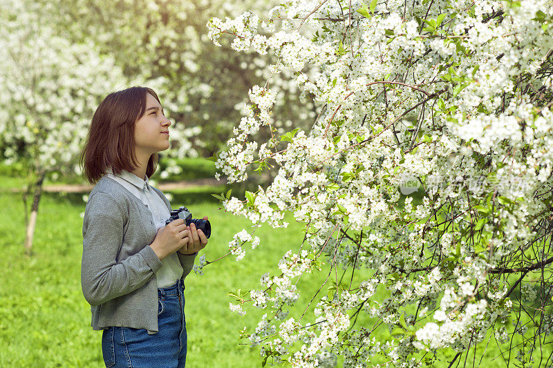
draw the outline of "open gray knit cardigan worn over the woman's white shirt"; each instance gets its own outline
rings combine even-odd
[[[165,195],[154,190],[171,211]],[[156,234],[147,206],[104,175],[88,196],[82,224],[81,283],[91,304],[93,329],[122,326],[158,332],[155,272],[162,263],[149,246]],[[196,254],[177,255],[184,279]]]

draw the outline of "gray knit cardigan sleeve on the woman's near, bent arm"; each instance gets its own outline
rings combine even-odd
[[[123,242],[125,218],[118,202],[108,193],[95,193],[86,204],[81,284],[84,298],[91,305],[131,293],[162,267],[149,244],[138,253],[116,261]]]

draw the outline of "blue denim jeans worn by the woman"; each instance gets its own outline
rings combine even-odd
[[[102,333],[102,354],[106,367],[184,368],[186,361],[186,320],[184,283],[158,289],[159,332],[146,329],[109,327]]]

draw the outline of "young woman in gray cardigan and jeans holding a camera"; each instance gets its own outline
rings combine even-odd
[[[153,90],[111,93],[92,118],[81,164],[91,183],[83,220],[81,282],[106,367],[185,367],[184,280],[207,238],[148,178],[169,126]],[[207,220],[207,217],[204,217]]]

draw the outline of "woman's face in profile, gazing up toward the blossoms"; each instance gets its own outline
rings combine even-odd
[[[171,122],[163,115],[158,100],[147,93],[146,111],[135,122],[134,142],[137,157],[149,157],[153,153],[169,148],[169,126]]]

